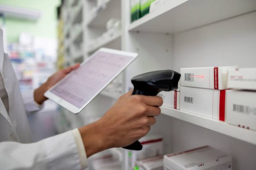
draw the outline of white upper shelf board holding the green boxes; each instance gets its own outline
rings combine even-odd
[[[255,0],[173,0],[134,21],[128,29],[179,33],[255,10]]]

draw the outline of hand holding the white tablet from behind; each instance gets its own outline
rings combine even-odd
[[[71,71],[75,70],[76,68],[79,68],[79,66],[80,64],[78,63],[68,68],[59,70],[55,74],[52,74],[52,76],[49,77],[44,84],[42,84],[39,88],[35,89],[34,91],[35,102],[41,105],[45,100],[47,100],[47,97],[44,96],[44,93],[47,90],[49,90],[52,86],[54,86],[57,82],[59,82],[61,79],[63,79],[65,76],[67,76],[67,74],[69,74]]]

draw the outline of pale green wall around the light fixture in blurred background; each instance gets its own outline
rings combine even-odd
[[[56,7],[60,0],[0,0],[0,4],[32,8],[41,11],[42,14],[37,21],[6,18],[8,42],[17,42],[21,32],[47,38],[57,37]]]

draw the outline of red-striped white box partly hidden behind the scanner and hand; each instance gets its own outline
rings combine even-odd
[[[163,98],[163,105],[180,110],[180,92],[162,91],[158,96]]]

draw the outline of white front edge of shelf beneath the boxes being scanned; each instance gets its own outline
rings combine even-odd
[[[241,127],[227,124],[226,122],[207,118],[194,113],[176,110],[166,106],[162,106],[161,111],[163,114],[172,116],[176,119],[180,119],[201,127],[205,127],[207,129],[225,134],[227,136],[231,136],[236,139],[240,139],[251,144],[256,144],[256,131],[244,129]]]

